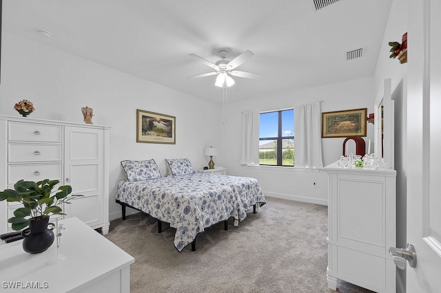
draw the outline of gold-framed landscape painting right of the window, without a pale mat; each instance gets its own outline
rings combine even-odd
[[[322,113],[322,138],[366,136],[367,108]]]

